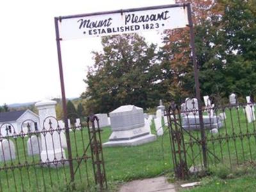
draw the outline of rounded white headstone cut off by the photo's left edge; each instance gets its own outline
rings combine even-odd
[[[16,158],[13,141],[4,139],[0,142],[0,161],[8,161]]]

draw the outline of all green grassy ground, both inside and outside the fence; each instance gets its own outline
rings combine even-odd
[[[231,113],[232,121],[230,120]],[[201,181],[201,186],[188,189],[188,191],[216,191],[216,189],[219,191],[240,191],[240,189],[246,191],[246,189],[256,188],[256,184],[253,182],[256,179],[256,166],[253,163],[254,159],[256,159],[255,136],[245,138],[237,137],[236,142],[230,139],[225,144],[222,143],[223,145],[220,145],[218,140],[214,140],[214,138],[233,134],[234,132],[237,135],[242,132],[255,133],[255,122],[252,124],[246,123],[246,116],[244,116],[243,109],[239,109],[238,111],[226,109],[226,115],[227,120],[225,120],[225,127],[227,127],[227,129],[222,127],[219,133],[215,135],[210,134],[209,131],[205,131],[207,138],[212,139],[211,142],[208,141],[207,147],[221,159],[221,162],[209,156],[210,172],[208,176],[202,178],[191,177],[188,180],[182,181]],[[152,124],[151,129],[152,134],[156,134],[154,124]],[[170,179],[170,182],[175,182],[177,189],[180,189],[180,181],[173,179],[172,152],[167,127],[165,127],[164,130],[164,135],[158,137],[157,140],[152,143],[137,147],[109,147],[103,149],[109,191],[118,190],[120,184],[130,180],[152,178],[159,175],[166,175],[166,177]],[[101,134],[102,143],[108,141],[110,134],[111,128],[105,127]],[[191,134],[193,134],[195,138],[200,138],[200,132],[198,131],[193,131]],[[76,158],[77,154],[79,154],[77,157],[80,157],[81,154],[84,153],[84,148],[88,145],[87,128],[84,127],[82,131],[74,130],[70,132],[70,137],[72,156]],[[24,138],[24,140],[21,138],[12,140],[15,147],[18,149],[16,153],[20,154],[19,159],[15,159],[13,163],[8,161],[5,165],[1,163],[1,168],[4,166],[12,166],[12,164],[19,164],[19,161],[27,162],[28,164],[38,162],[39,156],[24,155],[27,154],[27,152],[24,151],[24,148],[26,149],[24,146],[28,138]],[[187,134],[184,134],[184,140],[185,142],[189,140]],[[202,155],[200,153],[201,147],[199,145],[188,147],[188,156],[192,155],[191,149],[193,149],[194,153],[198,152],[200,154],[198,158],[195,158],[195,163],[198,162],[198,164],[200,164],[200,156]],[[90,156],[90,151],[86,154]],[[95,190],[93,188],[92,164],[90,161],[90,159],[88,159],[88,163],[82,161],[81,166],[76,171],[75,180],[77,191],[84,191],[88,184],[90,184],[92,191]],[[189,158],[187,161],[188,164],[191,164]],[[77,168],[77,162],[74,161],[75,170]],[[66,175],[66,177],[63,175]],[[88,177],[86,177],[86,175],[88,175]],[[46,168],[40,165],[22,166],[15,169],[10,168],[8,172],[1,170],[0,184],[3,191],[15,191],[14,186],[20,186],[20,189],[17,191],[35,191],[36,186],[40,188],[40,186],[44,184],[46,188],[49,188],[49,191],[65,191],[67,189],[66,184],[69,182],[68,177],[68,166],[63,166],[62,168]],[[43,182],[43,180],[45,182]]]

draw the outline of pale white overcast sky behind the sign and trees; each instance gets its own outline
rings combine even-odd
[[[0,106],[61,97],[54,17],[172,4],[174,0],[8,0],[0,3]],[[144,32],[159,44],[161,32]],[[100,38],[61,42],[67,98],[86,89],[83,79],[93,65]]]

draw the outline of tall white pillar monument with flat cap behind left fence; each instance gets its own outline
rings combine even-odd
[[[62,158],[66,158],[65,150],[61,148],[60,135],[58,131],[55,131],[58,129],[55,111],[56,103],[57,102],[54,100],[45,100],[35,104],[38,109],[41,129],[45,128],[46,130],[49,130],[49,120],[51,120],[51,127],[54,129],[52,134],[47,132],[45,136],[44,134],[41,134],[40,136],[42,141],[42,152],[40,157],[43,163],[48,163],[49,161],[52,162],[55,159],[60,161]]]

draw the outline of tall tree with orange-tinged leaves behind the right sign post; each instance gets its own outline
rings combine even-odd
[[[255,90],[256,80],[255,1],[191,3],[202,95],[249,95]],[[162,68],[169,67],[173,73],[168,79],[172,98],[195,96],[188,28],[168,31],[164,39]]]

